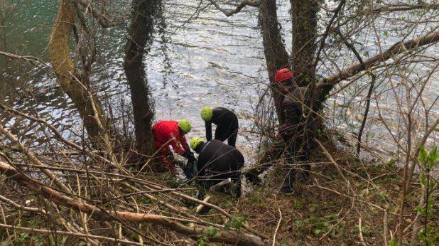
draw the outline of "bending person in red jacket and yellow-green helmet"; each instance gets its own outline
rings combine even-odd
[[[162,120],[154,124],[151,128],[154,135],[154,144],[158,149],[158,159],[166,165],[171,173],[175,173],[175,164],[169,146],[172,146],[175,153],[187,158],[189,160],[188,164],[196,162],[195,156],[190,151],[188,142],[185,139],[185,134],[190,132],[191,128],[188,120]],[[190,168],[187,170],[190,170]],[[185,173],[186,176],[190,176],[187,171],[185,171]]]

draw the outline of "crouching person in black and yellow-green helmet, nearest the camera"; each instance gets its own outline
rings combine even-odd
[[[213,139],[205,143],[193,138],[190,147],[198,154],[197,181],[206,190],[224,179],[232,178],[234,193],[241,196],[241,178],[239,169],[244,166],[244,156],[234,146]]]

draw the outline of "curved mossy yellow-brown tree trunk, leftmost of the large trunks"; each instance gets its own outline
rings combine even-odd
[[[70,58],[69,38],[75,21],[75,9],[69,0],[60,0],[58,14],[53,24],[49,42],[50,60],[58,77],[58,82],[64,92],[75,104],[85,129],[94,141],[106,136],[106,118],[99,102],[86,83],[80,82],[75,76],[75,65]]]

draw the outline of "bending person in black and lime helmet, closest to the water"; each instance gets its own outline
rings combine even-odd
[[[230,146],[235,146],[238,136],[238,117],[237,114],[225,107],[203,107],[201,109],[201,119],[205,121],[206,139],[212,140],[212,123],[217,125],[215,139],[225,141]]]

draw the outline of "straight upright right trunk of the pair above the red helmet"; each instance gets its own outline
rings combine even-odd
[[[291,69],[299,86],[315,82],[315,36],[318,6],[313,0],[291,0],[293,38]]]

